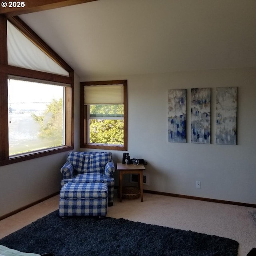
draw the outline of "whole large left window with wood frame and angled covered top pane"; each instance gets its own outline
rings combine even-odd
[[[0,17],[0,166],[74,149],[74,71],[9,19]]]

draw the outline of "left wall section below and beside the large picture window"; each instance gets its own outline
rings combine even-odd
[[[80,79],[75,74],[74,125],[75,149],[79,138]],[[50,196],[60,190],[60,168],[66,162],[68,152],[44,156],[16,164],[0,166],[0,217]]]

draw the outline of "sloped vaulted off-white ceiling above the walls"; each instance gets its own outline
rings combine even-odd
[[[81,77],[256,66],[255,0],[98,0],[19,17]]]

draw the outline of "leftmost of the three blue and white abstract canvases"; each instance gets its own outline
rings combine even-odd
[[[168,141],[186,142],[186,89],[168,90]]]

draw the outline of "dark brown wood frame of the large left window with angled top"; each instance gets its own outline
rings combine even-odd
[[[36,33],[19,17],[8,19],[36,46],[44,51],[52,60],[68,71],[69,76],[40,72],[8,65],[7,58],[7,18],[0,15],[0,166],[48,156],[74,149],[74,70],[56,54]],[[48,80],[70,84],[65,87],[65,145],[9,156],[8,143],[8,75]]]

